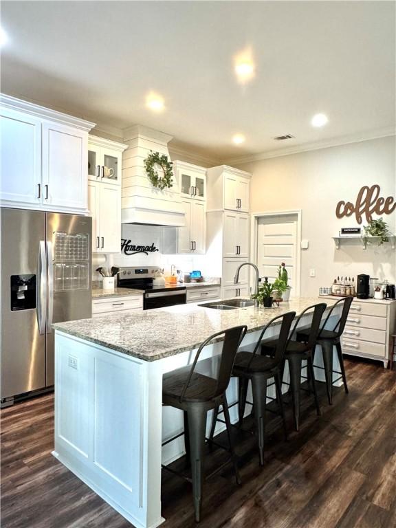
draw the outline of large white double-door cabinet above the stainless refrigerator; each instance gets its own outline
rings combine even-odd
[[[94,123],[0,96],[0,205],[87,214]]]

